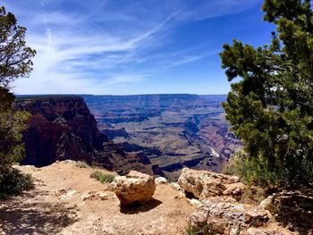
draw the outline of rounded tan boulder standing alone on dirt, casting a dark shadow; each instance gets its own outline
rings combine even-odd
[[[126,176],[119,176],[110,185],[121,205],[134,202],[146,204],[155,193],[156,183],[153,176],[131,171]]]

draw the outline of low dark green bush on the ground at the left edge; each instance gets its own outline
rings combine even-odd
[[[5,199],[11,195],[21,194],[24,190],[34,189],[34,182],[30,174],[7,167],[0,171],[0,199]]]

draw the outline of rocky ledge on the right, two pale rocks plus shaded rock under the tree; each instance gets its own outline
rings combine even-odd
[[[197,207],[190,215],[190,230],[195,234],[312,234],[313,197],[300,192],[274,194],[259,205],[250,205],[241,202],[250,189],[237,177],[185,168],[178,183],[199,200],[190,200]]]

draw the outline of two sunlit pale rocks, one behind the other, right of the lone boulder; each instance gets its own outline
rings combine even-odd
[[[250,189],[245,189],[237,177],[185,168],[178,182],[185,192],[199,198],[189,199],[196,207],[190,215],[190,230],[195,234],[292,234],[268,211],[278,211],[275,197],[268,197],[259,206],[239,202],[243,191]]]

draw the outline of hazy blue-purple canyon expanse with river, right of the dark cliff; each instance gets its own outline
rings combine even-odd
[[[125,152],[147,156],[170,180],[183,167],[220,172],[242,147],[225,120],[225,95],[82,97],[100,132]]]

